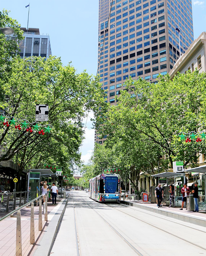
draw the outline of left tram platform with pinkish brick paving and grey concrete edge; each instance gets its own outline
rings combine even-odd
[[[34,224],[35,224],[35,244],[30,244],[30,207],[21,209],[22,222],[22,256],[33,256],[36,251],[38,255],[42,255],[42,250],[46,248],[48,251],[58,222],[60,222],[65,202],[67,198],[57,198],[57,204],[52,205],[52,201],[48,201],[48,221],[42,219],[42,231],[38,231],[38,211],[39,207],[34,207]],[[0,222],[0,256],[13,256],[16,252],[16,214],[8,217]],[[49,241],[49,239],[51,241]],[[47,241],[45,243],[45,241]],[[42,245],[42,246],[40,246]],[[42,249],[44,248],[44,249]],[[39,251],[40,249],[40,251]]]

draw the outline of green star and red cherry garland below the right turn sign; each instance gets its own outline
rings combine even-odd
[[[6,121],[6,120],[8,120],[8,121]],[[7,117],[4,114],[1,114],[0,122],[3,122],[3,125],[7,126],[7,127],[10,125],[14,125],[15,129],[21,130],[22,128],[25,128],[27,132],[32,133],[33,131],[37,131],[38,134],[41,134],[41,135],[45,135],[45,133],[50,133],[50,130],[52,129],[52,128],[50,128],[51,125],[50,126],[47,124],[42,125],[39,122],[33,122],[33,123],[35,123],[35,125],[33,125],[33,123],[30,123],[26,119],[17,119],[17,118],[14,118],[13,116]],[[16,124],[16,122],[18,123],[18,125]]]

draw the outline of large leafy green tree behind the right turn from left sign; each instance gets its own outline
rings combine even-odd
[[[71,64],[63,66],[60,58],[54,56],[47,60],[15,56],[10,63],[10,77],[2,89],[4,97],[0,107],[7,116],[4,121],[9,123],[13,118],[17,120],[15,124],[22,127],[26,119],[26,127],[33,127],[35,105],[44,103],[49,105],[49,122],[42,124],[49,124],[52,130],[42,135],[37,130],[27,132],[26,127],[15,129],[12,122],[8,127],[1,122],[0,145],[4,147],[0,161],[10,160],[18,153],[19,176],[31,161],[33,166],[54,161],[67,166],[69,172],[71,163],[80,159],[78,148],[84,136],[82,118],[90,110],[98,115],[99,106],[106,106],[98,78],[85,71],[76,74]]]

